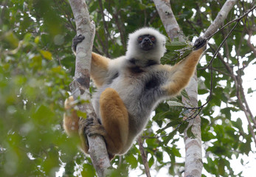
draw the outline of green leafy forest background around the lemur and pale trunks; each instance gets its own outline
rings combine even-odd
[[[187,41],[192,41],[209,27],[224,1],[170,3]],[[110,58],[124,55],[128,33],[139,27],[156,27],[166,34],[153,1],[98,0],[87,4],[97,28],[94,52]],[[238,1],[226,21],[242,15],[253,4]],[[0,15],[0,174],[94,176],[89,157],[77,151],[77,140],[67,138],[62,128],[63,101],[69,96],[75,69],[71,44],[76,32],[69,2],[3,0]],[[198,65],[199,105],[209,95],[211,80],[209,69],[200,68],[210,61],[232,25],[212,38],[205,59]],[[249,109],[254,105],[246,105],[243,96],[252,96],[255,88],[244,89],[242,80],[246,68],[255,64],[251,40],[255,35],[254,11],[238,24],[212,63],[212,97],[200,114],[205,176],[243,176],[234,172],[230,160],[239,157],[241,166],[248,162],[247,156],[255,156],[252,133],[256,124]],[[177,53],[172,47],[168,49],[162,63],[176,63]],[[255,75],[249,77],[255,80]],[[179,157],[184,156],[184,150],[177,142],[184,128],[170,133],[182,122],[182,111],[161,103],[148,123],[142,139],[151,170],[167,169],[172,176],[182,175],[184,162]],[[241,111],[243,114],[235,114]],[[143,173],[137,145],[112,163],[118,176],[128,176],[132,169],[138,176]]]

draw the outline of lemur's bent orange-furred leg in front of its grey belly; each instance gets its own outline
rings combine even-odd
[[[108,88],[100,95],[100,113],[109,153],[120,153],[128,139],[128,111],[119,94]]]

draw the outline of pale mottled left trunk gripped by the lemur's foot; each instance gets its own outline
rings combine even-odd
[[[94,41],[95,26],[91,23],[89,18],[89,12],[84,0],[69,0],[70,6],[75,17],[75,23],[77,26],[77,34],[85,36],[80,44],[77,44],[76,50],[76,62],[75,62],[75,77],[70,84],[72,95],[80,100],[91,100],[89,87],[90,87],[90,71],[91,71],[91,50]],[[79,106],[79,110],[86,112],[87,117],[93,117],[94,122],[97,123],[96,114],[91,103],[86,103]],[[84,142],[85,119],[80,118],[79,133],[81,140]],[[111,166],[108,159],[108,152],[105,147],[105,142],[102,136],[88,136],[89,153],[91,161],[94,164],[94,168],[97,171],[98,176],[106,176],[108,173],[107,168]]]

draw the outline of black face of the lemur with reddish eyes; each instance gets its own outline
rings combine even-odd
[[[137,41],[140,48],[145,51],[153,49],[156,44],[156,38],[153,35],[140,35]]]

